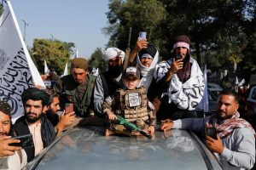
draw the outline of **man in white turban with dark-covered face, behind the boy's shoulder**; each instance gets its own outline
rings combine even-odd
[[[102,104],[104,99],[113,95],[117,88],[122,87],[122,71],[125,52],[119,48],[108,48],[103,53],[103,59],[108,62],[108,71],[96,77],[94,88],[94,109],[96,116],[104,117]]]

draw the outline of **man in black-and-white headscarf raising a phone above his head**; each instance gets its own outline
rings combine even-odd
[[[157,48],[148,44],[146,40],[137,41],[136,47],[131,51],[129,60],[131,65],[135,65],[134,60],[137,56],[137,67],[141,72],[141,82],[138,87],[145,87],[146,92],[150,83],[152,82],[155,65],[159,59],[159,53]]]

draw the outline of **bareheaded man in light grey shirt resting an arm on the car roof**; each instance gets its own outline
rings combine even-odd
[[[205,118],[166,120],[160,128],[183,128],[204,133],[206,127],[216,127],[217,138],[206,136],[207,147],[225,166],[250,169],[255,161],[255,132],[244,119],[239,118],[239,96],[232,90],[223,90],[218,99],[217,112]],[[225,169],[225,168],[224,168]],[[235,168],[233,168],[235,169]]]

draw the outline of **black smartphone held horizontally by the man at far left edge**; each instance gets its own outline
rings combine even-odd
[[[9,144],[10,146],[20,146],[21,148],[28,148],[32,147],[34,145],[32,134],[26,134],[26,135],[20,135],[20,136],[14,136],[11,139],[19,139],[20,143],[12,143]]]

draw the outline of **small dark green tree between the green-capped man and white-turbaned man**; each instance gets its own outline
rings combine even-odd
[[[102,59],[102,48],[96,48],[95,52],[90,56],[90,67],[99,69],[99,73],[106,71],[107,63]]]

